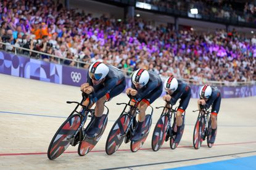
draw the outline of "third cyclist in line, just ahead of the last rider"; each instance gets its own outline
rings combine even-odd
[[[163,96],[163,100],[168,104],[173,106],[176,104],[178,99],[181,99],[176,112],[177,134],[175,137],[175,143],[178,143],[181,140],[181,130],[183,125],[182,114],[188,107],[188,103],[191,98],[191,88],[187,83],[177,80],[173,76],[168,77],[168,79],[165,80],[164,87],[167,94]]]

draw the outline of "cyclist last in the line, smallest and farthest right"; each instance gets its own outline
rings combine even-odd
[[[220,90],[217,87],[210,87],[209,85],[204,85],[199,90],[200,99],[197,101],[197,104],[209,109],[212,106],[211,119],[212,119],[212,137],[210,138],[209,143],[215,141],[215,132],[217,129],[217,115],[220,110],[221,95]]]

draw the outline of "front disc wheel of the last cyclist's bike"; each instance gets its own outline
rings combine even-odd
[[[204,128],[205,128],[205,120],[202,116],[197,118],[196,125],[194,128],[193,134],[193,145],[194,149],[199,149],[204,141]]]

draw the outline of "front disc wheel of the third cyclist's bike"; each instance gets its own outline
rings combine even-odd
[[[165,137],[167,136],[167,126],[168,115],[162,115],[154,128],[151,141],[152,150],[157,151],[162,147]]]

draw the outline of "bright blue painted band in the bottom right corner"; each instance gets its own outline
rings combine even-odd
[[[207,170],[215,170],[217,168],[220,169],[255,169],[255,161],[256,156],[249,156],[244,158],[235,158],[232,160],[226,160],[226,161],[217,161],[213,163],[203,163],[203,164],[196,164],[192,166],[183,166],[180,168],[171,168],[171,170],[200,170],[200,169],[207,169]],[[169,170],[169,169],[165,169]]]

